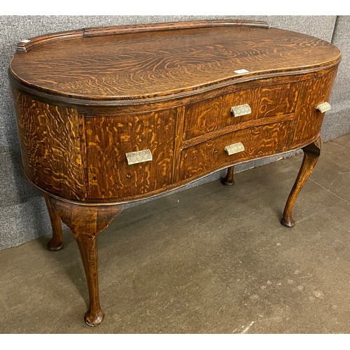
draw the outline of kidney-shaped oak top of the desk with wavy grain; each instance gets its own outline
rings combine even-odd
[[[117,102],[197,93],[218,83],[235,82],[241,78],[237,69],[247,69],[244,76],[255,78],[316,69],[340,59],[339,50],[330,43],[276,28],[144,29],[70,38],[18,52],[10,62],[10,76],[22,88]]]

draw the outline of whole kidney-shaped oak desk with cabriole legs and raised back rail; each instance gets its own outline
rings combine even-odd
[[[104,317],[97,234],[125,203],[225,168],[232,186],[234,165],[303,148],[281,221],[293,226],[319,155],[317,106],[340,57],[321,39],[232,20],[87,28],[18,44],[9,76],[23,170],[45,194],[49,248],[62,248],[61,219],[76,237],[87,324]]]

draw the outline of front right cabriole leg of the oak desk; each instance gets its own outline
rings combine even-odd
[[[295,180],[294,186],[290,192],[288,197],[286,207],[283,212],[283,218],[281,219],[281,224],[286,226],[287,228],[293,228],[295,225],[295,221],[292,218],[292,211],[295,204],[295,200],[297,199],[297,195],[299,195],[300,190],[306,183],[307,179],[311,175],[316,162],[321,153],[321,138],[309,144],[308,146],[302,148],[304,151],[304,159],[302,160],[302,166],[300,167],[299,174],[297,174],[297,179]]]

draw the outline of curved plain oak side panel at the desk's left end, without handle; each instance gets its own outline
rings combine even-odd
[[[43,104],[20,92],[13,96],[22,164],[29,179],[53,195],[83,200],[83,116],[75,109]]]

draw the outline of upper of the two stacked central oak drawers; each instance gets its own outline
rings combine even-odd
[[[299,82],[256,87],[186,106],[183,139],[192,139],[246,120],[294,113],[299,88]],[[246,116],[233,116],[232,106],[242,104],[248,104],[251,113]]]

